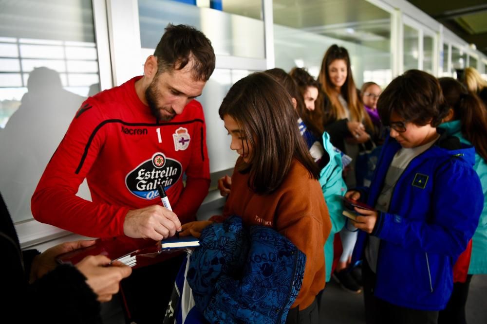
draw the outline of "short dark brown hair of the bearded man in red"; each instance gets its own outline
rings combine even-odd
[[[205,34],[187,25],[168,24],[154,51],[157,73],[183,69],[190,61],[195,80],[207,81],[215,69],[215,53]]]

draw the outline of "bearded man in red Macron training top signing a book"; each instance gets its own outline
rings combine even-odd
[[[214,67],[203,33],[168,25],[144,76],[81,105],[37,185],[34,217],[91,237],[153,240],[195,220],[210,176],[203,108],[194,98]],[[93,202],[76,196],[85,178]],[[158,184],[173,212],[162,207]],[[165,259],[135,269],[122,282],[128,320],[155,323],[164,317],[182,258]]]

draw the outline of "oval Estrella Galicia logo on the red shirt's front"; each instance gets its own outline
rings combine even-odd
[[[125,177],[125,185],[133,195],[150,200],[159,196],[158,184],[162,184],[164,189],[168,190],[181,178],[182,173],[183,167],[179,161],[157,152]]]

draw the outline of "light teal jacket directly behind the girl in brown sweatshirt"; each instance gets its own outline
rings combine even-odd
[[[343,207],[338,195],[345,196],[347,185],[341,175],[343,167],[340,151],[333,147],[330,142],[330,135],[327,132],[323,133],[323,147],[330,156],[330,161],[319,173],[319,184],[321,185],[332,221],[332,229],[324,246],[326,282],[328,282],[330,281],[333,265],[333,239],[335,234],[345,225],[345,216],[341,214]]]

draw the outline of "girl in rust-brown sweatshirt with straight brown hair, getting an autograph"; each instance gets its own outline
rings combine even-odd
[[[230,149],[240,155],[223,218],[238,215],[245,226],[270,227],[306,254],[301,289],[286,323],[298,323],[299,317],[318,323],[316,295],[325,285],[323,246],[331,223],[291,96],[272,76],[253,73],[230,88],[219,114],[231,136]],[[199,236],[221,220],[187,223],[181,235]]]

